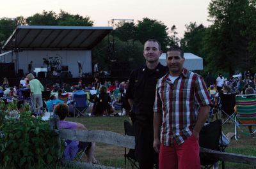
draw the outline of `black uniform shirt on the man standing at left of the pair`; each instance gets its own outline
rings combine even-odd
[[[127,98],[133,99],[132,111],[136,114],[137,122],[151,123],[153,121],[153,107],[156,95],[156,83],[168,72],[168,68],[158,64],[154,70],[146,65],[133,70],[127,89]]]

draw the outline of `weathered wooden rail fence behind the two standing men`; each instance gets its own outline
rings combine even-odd
[[[83,142],[98,142],[98,143],[108,143],[110,145],[115,145],[118,147],[126,147],[129,149],[134,149],[134,136],[126,136],[118,133],[113,133],[111,131],[102,130],[81,130],[81,129],[60,129],[56,130],[59,133],[60,138],[79,140]],[[209,158],[218,158],[220,161],[228,161],[232,163],[244,163],[256,166],[255,156],[246,156],[242,154],[234,154],[228,152],[212,151],[209,149],[200,148],[200,152],[204,152]],[[93,168],[93,169],[113,169],[110,166],[102,165],[90,165],[88,163],[79,163],[75,161],[70,161],[68,165],[74,165],[77,168]]]

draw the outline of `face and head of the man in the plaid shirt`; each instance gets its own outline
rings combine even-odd
[[[171,75],[173,76],[179,76],[182,69],[183,69],[183,64],[184,64],[184,57],[180,56],[179,51],[170,51],[167,52],[167,59],[166,63],[169,68],[169,71]]]

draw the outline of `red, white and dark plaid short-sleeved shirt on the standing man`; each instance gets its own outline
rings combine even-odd
[[[199,108],[211,105],[211,99],[200,75],[184,68],[174,82],[168,76],[157,82],[154,112],[163,112],[161,143],[172,145],[175,138],[180,145],[192,135]]]

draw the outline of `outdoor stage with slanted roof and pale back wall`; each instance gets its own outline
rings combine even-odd
[[[92,74],[92,49],[112,27],[92,26],[17,26],[2,47],[0,62],[13,63],[5,70],[6,77],[13,72],[28,73],[28,64],[35,68],[49,68],[51,71],[70,71],[72,77],[79,77],[78,63],[83,73]],[[0,50],[0,51],[1,51]],[[79,61],[79,62],[78,62]],[[9,74],[9,75],[8,75]]]

